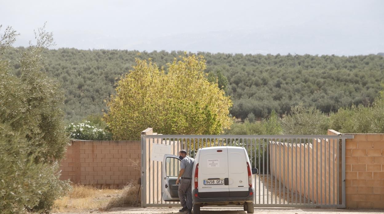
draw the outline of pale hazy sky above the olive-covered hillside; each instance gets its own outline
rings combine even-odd
[[[0,0],[28,46],[47,21],[59,47],[251,54],[384,52],[384,1]]]

